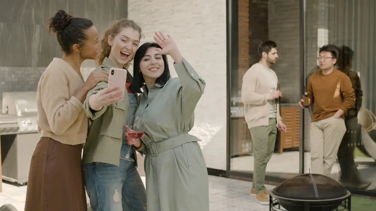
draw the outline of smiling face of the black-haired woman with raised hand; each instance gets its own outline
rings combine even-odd
[[[164,61],[162,54],[156,50],[156,47],[147,49],[146,54],[141,59],[140,70],[145,81],[155,81],[164,72]]]

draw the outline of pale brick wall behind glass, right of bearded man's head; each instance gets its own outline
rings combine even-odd
[[[301,98],[300,72],[300,0],[269,0],[269,39],[277,43],[279,59],[271,66],[278,76],[282,103],[297,103]]]

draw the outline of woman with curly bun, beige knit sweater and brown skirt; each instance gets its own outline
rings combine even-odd
[[[95,59],[98,31],[86,18],[59,10],[49,20],[64,56],[54,58],[38,84],[38,131],[41,133],[30,163],[25,211],[87,210],[82,173],[82,144],[88,130],[83,101],[105,71],[83,80],[80,66]]]

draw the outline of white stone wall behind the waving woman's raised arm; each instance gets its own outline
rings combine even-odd
[[[207,167],[226,170],[226,1],[129,0],[128,18],[142,27],[141,42],[154,41],[156,30],[170,34],[206,81],[191,134],[203,140]]]

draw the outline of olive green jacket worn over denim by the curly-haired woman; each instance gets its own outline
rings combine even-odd
[[[96,69],[109,72],[114,67],[107,57],[103,64]],[[128,72],[128,79],[132,81],[132,75]],[[125,81],[124,81],[125,83]],[[83,148],[83,163],[101,162],[119,166],[120,150],[123,144],[124,126],[128,113],[128,92],[124,91],[124,98],[114,104],[103,106],[99,111],[90,109],[89,97],[92,94],[107,88],[107,83],[101,81],[88,92],[83,102],[83,110],[89,118],[88,136]],[[136,157],[136,156],[135,156]]]

